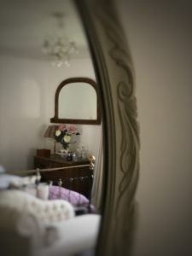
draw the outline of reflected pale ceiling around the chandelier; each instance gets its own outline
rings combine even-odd
[[[53,14],[62,12],[65,33],[79,49],[79,57],[89,55],[84,29],[72,0],[0,0],[0,54],[46,60],[42,44],[54,31]]]

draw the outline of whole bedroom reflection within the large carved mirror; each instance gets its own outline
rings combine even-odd
[[[79,11],[19,0],[0,13],[1,255],[94,253],[102,107]]]

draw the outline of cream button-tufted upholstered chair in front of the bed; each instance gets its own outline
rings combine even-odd
[[[0,255],[69,256],[94,249],[99,222],[96,214],[74,217],[67,201],[6,189],[0,191]]]

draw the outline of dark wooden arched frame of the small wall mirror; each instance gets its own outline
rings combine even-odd
[[[86,83],[90,84],[96,90],[96,119],[61,119],[59,117],[59,96],[61,89],[67,84]],[[100,125],[101,124],[101,107],[98,96],[97,84],[94,80],[88,78],[70,78],[65,79],[59,84],[55,91],[55,116],[50,119],[51,123],[65,124],[82,124],[82,125]]]

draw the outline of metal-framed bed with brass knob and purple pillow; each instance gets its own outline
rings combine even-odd
[[[76,215],[96,212],[95,207],[91,204],[92,174],[90,176],[67,178],[58,178],[57,176],[54,180],[49,180],[49,182],[44,181],[44,178],[42,179],[44,172],[51,173],[63,169],[67,169],[67,167],[49,169],[38,168],[37,170],[18,172],[17,175],[4,173],[0,175],[0,189],[22,189],[42,199],[61,199],[69,201],[73,205]],[[90,169],[94,169],[93,161],[90,161]],[[86,196],[73,190],[73,188],[76,188],[77,184],[78,188],[84,186],[84,180],[86,180],[86,184],[89,184],[86,188]],[[41,195],[39,195],[39,191],[41,191]],[[43,195],[42,191],[44,191],[46,195]]]

